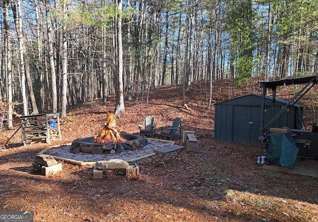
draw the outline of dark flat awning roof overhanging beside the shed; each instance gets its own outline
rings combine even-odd
[[[268,81],[268,82],[260,82],[260,84],[262,86],[265,86],[266,88],[270,88],[270,89],[275,90],[277,86],[287,86],[287,85],[293,85],[293,84],[307,84],[311,81],[314,84],[317,84],[318,83],[318,75],[293,78],[293,79],[281,79],[281,80],[274,80],[274,81]]]

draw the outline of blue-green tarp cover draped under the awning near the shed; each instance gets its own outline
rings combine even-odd
[[[290,134],[269,133],[266,162],[294,169],[299,148]]]

